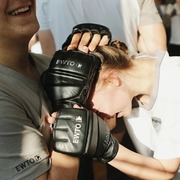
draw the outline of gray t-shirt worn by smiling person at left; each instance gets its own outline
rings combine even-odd
[[[31,56],[40,74],[47,69],[47,57]],[[39,83],[3,65],[0,77],[0,177],[34,179],[51,165],[48,137],[41,132],[48,108]]]

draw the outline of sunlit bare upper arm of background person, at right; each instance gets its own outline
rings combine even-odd
[[[140,52],[167,50],[166,32],[162,23],[140,26],[139,34],[138,50]]]

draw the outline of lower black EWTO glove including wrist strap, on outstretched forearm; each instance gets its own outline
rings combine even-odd
[[[94,112],[65,108],[56,116],[53,149],[72,156],[87,155],[107,163],[116,156],[119,143]]]

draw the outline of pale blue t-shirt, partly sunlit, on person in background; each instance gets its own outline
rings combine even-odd
[[[109,27],[112,40],[125,42],[129,53],[134,54],[138,27],[162,22],[154,0],[38,0],[36,3],[40,30],[51,30],[57,50],[73,26],[97,23]]]

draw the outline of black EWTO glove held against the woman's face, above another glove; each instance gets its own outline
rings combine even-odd
[[[41,76],[41,84],[54,111],[74,104],[86,106],[94,88],[100,59],[81,51],[59,50]]]

